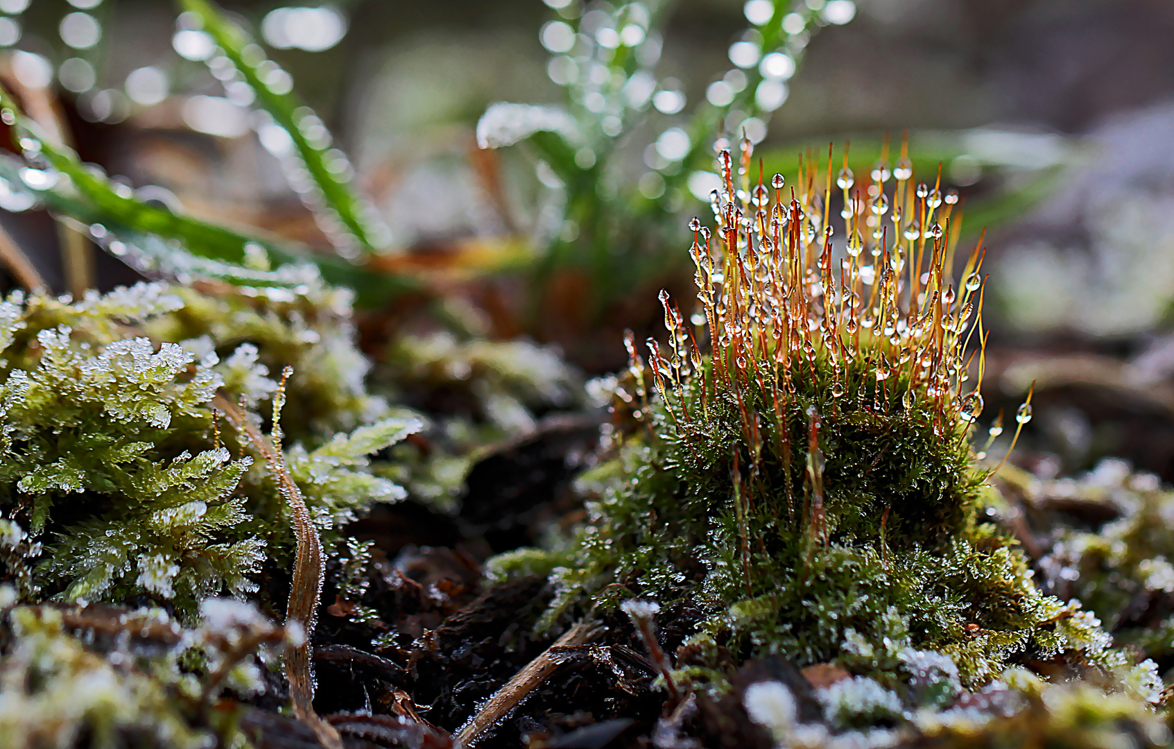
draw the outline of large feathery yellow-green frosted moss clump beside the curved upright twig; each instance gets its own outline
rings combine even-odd
[[[295,367],[305,364],[303,389],[332,404],[333,424],[358,425],[333,433],[330,419],[305,409],[290,420],[305,441],[291,440],[286,463],[328,544],[362,508],[403,497],[370,472],[367,456],[420,423],[360,407],[372,400],[362,377],[340,379],[348,362],[363,362],[353,349],[338,353],[351,345],[345,330],[298,333],[340,338],[326,351],[275,351],[263,336],[215,328],[163,343],[144,335],[194,315],[189,303],[190,293],[161,284],[76,303],[43,295],[0,303],[2,556],[26,600],[146,595],[191,613],[208,595],[256,593],[269,556],[288,567],[292,534],[272,478],[221,439],[212,406],[217,394],[257,405],[275,391],[263,358],[288,353]],[[312,402],[304,393],[303,407]]]

